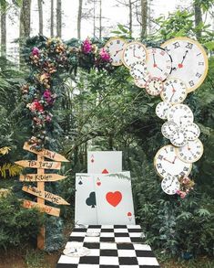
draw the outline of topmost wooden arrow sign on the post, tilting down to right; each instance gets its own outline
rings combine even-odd
[[[23,149],[26,151],[29,151],[31,153],[34,153],[36,155],[41,155],[44,156],[46,158],[55,160],[55,161],[59,161],[59,162],[69,162],[66,157],[64,157],[63,155],[59,155],[56,152],[52,152],[46,149],[42,149],[41,151],[36,151],[36,149],[34,149],[34,147],[32,145],[28,145],[27,143],[25,143],[25,145],[23,146]]]

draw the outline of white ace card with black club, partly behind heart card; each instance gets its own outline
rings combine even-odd
[[[76,224],[98,224],[93,175],[76,173],[75,222]]]

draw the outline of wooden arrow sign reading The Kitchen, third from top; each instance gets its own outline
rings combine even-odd
[[[36,182],[48,182],[56,181],[66,178],[66,176],[61,176],[58,174],[21,174],[19,181],[36,181]]]

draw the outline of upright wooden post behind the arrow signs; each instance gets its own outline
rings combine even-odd
[[[44,161],[45,157],[41,156],[41,155],[37,155],[37,161]],[[37,169],[37,174],[38,175],[43,175],[45,174],[45,170],[44,168],[38,168]],[[45,191],[45,182],[44,181],[40,181],[37,182],[37,188],[41,191]],[[45,204],[45,199],[43,198],[37,198],[37,203],[38,204]],[[45,249],[45,227],[43,226],[37,236],[37,248],[40,250],[44,250]]]

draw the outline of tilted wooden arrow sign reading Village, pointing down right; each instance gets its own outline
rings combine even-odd
[[[28,194],[32,194],[38,198],[46,199],[47,201],[50,201],[56,205],[70,205],[69,203],[66,202],[64,198],[58,197],[50,192],[41,191],[36,187],[24,186],[22,189]]]

